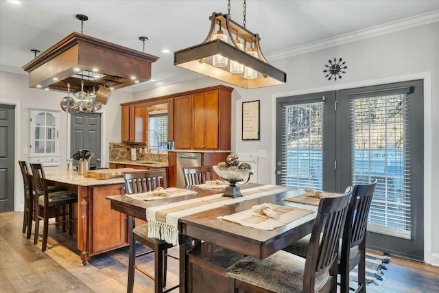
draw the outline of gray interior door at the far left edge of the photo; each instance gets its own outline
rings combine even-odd
[[[0,104],[0,212],[14,210],[15,106]]]

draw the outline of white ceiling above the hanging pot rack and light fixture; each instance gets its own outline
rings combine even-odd
[[[230,4],[231,19],[240,24],[243,3],[232,0]],[[248,0],[246,4],[246,28],[259,34],[261,49],[268,60],[277,51],[439,9],[439,1],[422,0]],[[156,82],[191,78],[195,73],[174,67],[173,52],[204,40],[212,12],[226,14],[227,1],[25,0],[21,5],[13,5],[1,0],[1,69],[25,74],[21,67],[34,58],[30,49],[44,51],[71,32],[80,32],[80,21],[75,15],[86,14],[84,34],[88,36],[139,51],[143,45],[139,36],[147,36],[150,40],[145,44],[145,53],[160,57],[152,65]],[[162,49],[171,53],[163,54]],[[136,92],[150,86],[154,82],[126,90]]]

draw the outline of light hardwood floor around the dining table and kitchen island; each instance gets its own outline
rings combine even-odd
[[[128,248],[91,257],[84,267],[75,237],[51,225],[43,253],[41,240],[34,246],[33,236],[26,239],[21,233],[22,217],[20,212],[0,213],[0,292],[126,292]],[[170,253],[178,255],[178,248]],[[154,271],[152,255],[139,258],[137,263]],[[178,261],[169,258],[168,263],[171,287],[178,283]],[[368,285],[368,293],[439,292],[438,267],[398,257],[392,257],[386,266],[385,280],[381,285]],[[134,292],[154,292],[154,283],[137,274]]]

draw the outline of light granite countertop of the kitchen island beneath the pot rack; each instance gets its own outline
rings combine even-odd
[[[139,171],[139,169],[137,169],[136,171]],[[67,167],[44,167],[44,173],[46,176],[46,180],[51,180],[59,183],[67,183],[71,185],[95,186],[124,183],[123,177],[115,177],[102,180],[88,178],[78,174],[78,171],[67,171]]]

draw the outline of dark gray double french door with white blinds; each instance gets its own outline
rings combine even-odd
[[[367,245],[423,259],[423,82],[278,98],[276,184],[343,192],[377,178]]]

